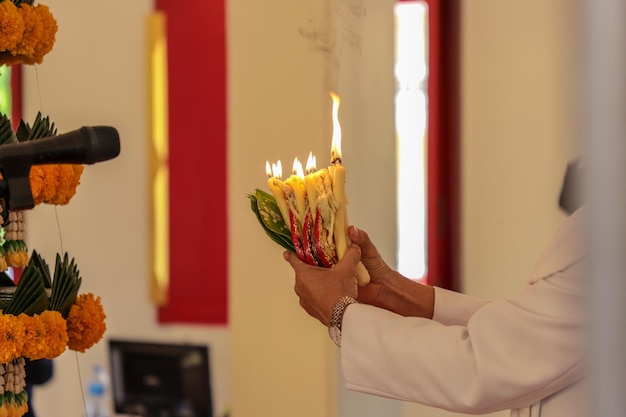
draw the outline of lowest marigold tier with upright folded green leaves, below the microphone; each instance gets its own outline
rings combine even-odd
[[[10,301],[0,309],[0,417],[28,411],[26,360],[53,359],[67,349],[85,352],[104,336],[100,297],[77,295],[81,281],[67,254],[57,255],[51,281],[46,262],[33,251]]]

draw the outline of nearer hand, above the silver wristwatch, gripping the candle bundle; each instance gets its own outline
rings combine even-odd
[[[300,305],[324,326],[330,323],[333,308],[341,297],[357,298],[356,270],[361,258],[357,245],[350,246],[332,268],[308,265],[289,251],[284,252],[283,257],[296,273],[294,290]]]

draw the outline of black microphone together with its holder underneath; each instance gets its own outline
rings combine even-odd
[[[0,146],[0,198],[9,210],[35,206],[30,189],[30,168],[46,164],[94,164],[120,154],[117,130],[109,126],[85,126],[42,139]]]

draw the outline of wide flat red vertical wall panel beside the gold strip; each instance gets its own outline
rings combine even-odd
[[[225,4],[157,0],[168,43],[170,287],[160,322],[228,322]]]

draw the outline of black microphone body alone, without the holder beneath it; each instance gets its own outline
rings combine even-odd
[[[117,130],[109,126],[78,130],[42,139],[0,146],[0,167],[16,164],[94,164],[120,154]]]

